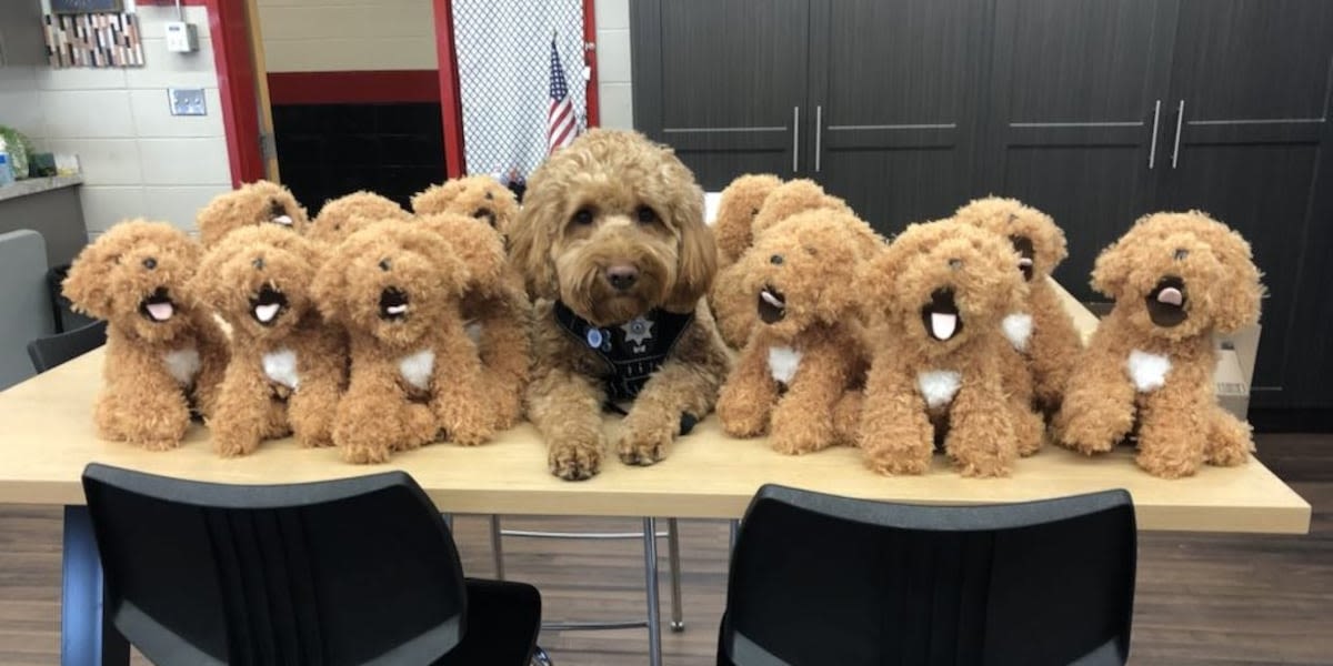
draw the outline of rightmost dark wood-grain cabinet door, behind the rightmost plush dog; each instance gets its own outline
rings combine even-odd
[[[1330,64],[1333,3],[1181,1],[1158,208],[1206,210],[1250,241],[1269,290],[1260,406],[1329,402]]]

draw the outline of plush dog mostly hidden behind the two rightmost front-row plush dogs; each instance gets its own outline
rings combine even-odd
[[[1074,322],[1050,282],[1050,273],[1069,254],[1065,233],[1050,216],[1013,198],[972,201],[960,208],[954,218],[1004,236],[1018,252],[1017,269],[1028,282],[1028,300],[1001,325],[1032,376],[1037,406],[1053,414],[1060,409],[1069,373],[1082,350]]]

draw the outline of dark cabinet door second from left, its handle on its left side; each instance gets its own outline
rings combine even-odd
[[[989,9],[974,0],[814,0],[809,177],[885,233],[972,194]]]

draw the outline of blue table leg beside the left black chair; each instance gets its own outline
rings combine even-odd
[[[111,623],[87,506],[65,506],[63,557],[61,666],[128,666],[129,643]]]

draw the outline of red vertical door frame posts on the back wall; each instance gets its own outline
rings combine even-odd
[[[156,1],[156,0],[155,0]],[[213,41],[213,65],[227,132],[227,157],[232,186],[264,177],[264,156],[259,140],[259,95],[255,61],[251,57],[249,23],[245,3],[236,0],[187,0],[208,8],[208,28]],[[453,48],[453,3],[433,0],[436,63],[440,77],[440,115],[444,124],[445,173],[467,173],[463,153],[463,103],[459,95],[459,57]],[[597,97],[596,0],[583,0],[584,64],[588,65],[588,127],[601,123]],[[267,75],[265,75],[267,76]]]

